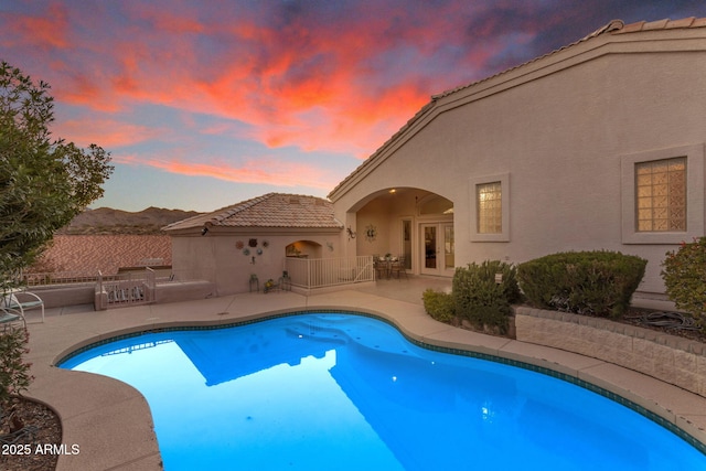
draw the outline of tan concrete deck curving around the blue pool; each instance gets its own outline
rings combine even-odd
[[[426,288],[447,289],[450,280],[410,277],[311,296],[259,292],[98,312],[86,307],[50,310],[44,323],[28,325],[26,360],[33,364],[35,379],[26,396],[51,405],[62,419],[66,454],[60,457],[57,470],[160,470],[151,414],[141,394],[116,379],[57,368],[55,362],[77,347],[136,331],[336,309],[377,314],[425,343],[477,351],[579,377],[637,403],[706,443],[705,397],[592,357],[437,322],[421,304]],[[79,451],[71,454],[74,445]]]

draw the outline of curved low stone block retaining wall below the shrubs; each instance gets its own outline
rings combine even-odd
[[[566,312],[515,308],[516,339],[610,362],[706,397],[706,344]]]

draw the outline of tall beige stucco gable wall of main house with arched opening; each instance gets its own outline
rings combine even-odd
[[[453,201],[457,266],[620,250],[648,258],[641,291],[663,292],[660,264],[677,244],[625,243],[621,161],[656,149],[700,148],[688,188],[697,224],[680,237],[704,235],[706,39],[698,38],[702,31],[666,42],[670,34],[676,33],[630,45],[579,44],[439,98],[374,165],[332,193],[336,216],[388,188],[424,189]],[[503,210],[510,212],[509,240],[472,242],[471,181],[499,174],[510,182],[503,189],[510,193]]]

